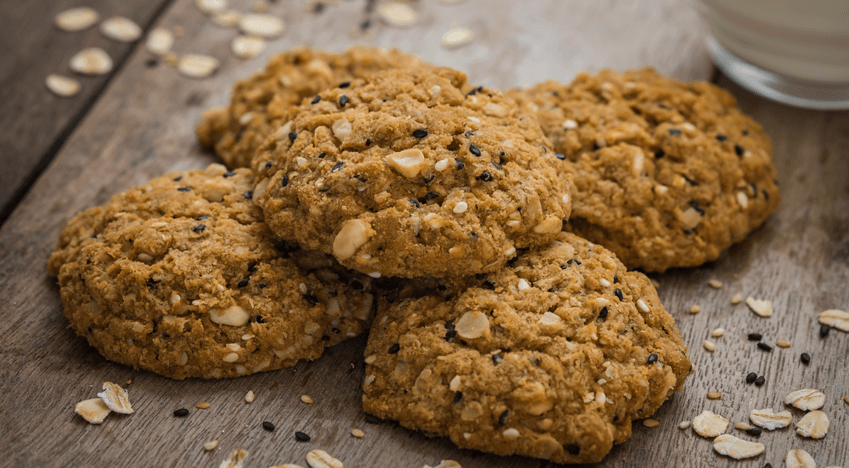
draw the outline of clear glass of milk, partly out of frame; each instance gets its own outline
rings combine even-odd
[[[749,91],[849,109],[849,0],[700,0],[713,59]]]

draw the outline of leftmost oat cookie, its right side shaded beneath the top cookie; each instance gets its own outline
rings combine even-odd
[[[107,359],[175,379],[291,366],[362,332],[371,278],[279,241],[252,179],[172,173],[71,219],[48,266],[71,327]]]

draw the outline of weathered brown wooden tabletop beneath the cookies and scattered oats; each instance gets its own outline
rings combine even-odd
[[[554,78],[569,81],[580,70],[654,66],[679,79],[713,79],[728,88],[760,121],[775,142],[783,203],[764,227],[701,268],[655,275],[660,296],[676,318],[696,366],[684,393],[655,418],[660,427],[635,423],[634,436],[614,448],[604,466],[783,466],[791,448],[807,450],[818,466],[849,467],[849,336],[832,331],[820,338],[816,315],[849,307],[849,112],[814,112],[755,97],[714,71],[702,45],[705,27],[691,5],[675,0],[584,2],[468,0],[447,5],[416,2],[418,23],[408,29],[381,24],[365,0],[325,2],[314,8],[299,0],[271,5],[287,21],[283,37],[251,60],[229,52],[235,30],[212,24],[191,0],[88,0],[104,17],[124,15],[146,30],[181,27],[178,53],[199,52],[222,60],[212,78],[181,77],[162,61],[151,63],[140,42],[117,44],[95,29],[81,33],[52,27],[55,13],[73,0],[0,3],[0,466],[208,466],[217,467],[235,447],[250,452],[247,468],[282,463],[306,466],[304,455],[320,448],[346,467],[421,467],[441,459],[463,467],[544,467],[546,461],[503,458],[457,449],[447,439],[429,439],[394,423],[368,424],[360,404],[362,352],[366,339],[329,349],[294,368],[224,381],[173,381],[107,362],[67,328],[58,287],[45,262],[65,222],[112,194],[168,171],[201,168],[213,161],[195,141],[201,112],[227,102],[234,80],[260,68],[273,53],[295,45],[341,51],[362,41],[397,46],[427,61],[467,72],[472,81],[499,87]],[[524,3],[524,4],[522,4]],[[254,1],[231,0],[239,10]],[[366,35],[351,35],[371,20]],[[466,26],[476,40],[457,50],[440,46],[453,26]],[[103,46],[116,62],[105,77],[81,78],[74,98],[49,94],[48,73],[67,73],[70,56],[84,46]],[[719,290],[708,279],[723,282]],[[770,299],[775,313],[764,319],[734,294]],[[702,312],[692,315],[690,306]],[[723,327],[717,349],[701,346]],[[764,334],[772,352],[746,340]],[[807,352],[809,366],[799,362]],[[766,376],[762,387],[744,376]],[[92,398],[104,381],[132,380],[136,413],[111,415],[88,425],[74,405]],[[703,409],[732,422],[751,409],[784,409],[790,391],[818,388],[831,430],[823,440],[797,436],[791,428],[765,433],[760,457],[735,462],[716,455],[708,440],[677,428]],[[247,404],[248,390],[256,401]],[[707,400],[709,391],[722,392]],[[300,395],[312,396],[306,405]],[[208,401],[211,407],[194,405]],[[186,407],[187,418],[172,411]],[[791,409],[795,420],[801,413]],[[260,423],[271,421],[273,433]],[[350,435],[365,431],[363,439]],[[312,436],[297,442],[294,431]],[[740,435],[739,431],[729,432]],[[752,437],[743,434],[742,438]],[[220,441],[213,452],[204,442]]]

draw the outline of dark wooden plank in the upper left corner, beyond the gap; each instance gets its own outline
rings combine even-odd
[[[121,15],[144,27],[168,3],[90,0],[85,5],[101,19]],[[68,67],[71,56],[85,47],[102,47],[120,67],[133,50],[134,44],[106,39],[97,27],[65,32],[54,26],[54,15],[77,6],[76,0],[0,2],[0,223],[112,76],[74,76]],[[51,73],[74,76],[82,89],[71,98],[52,94],[44,85]]]

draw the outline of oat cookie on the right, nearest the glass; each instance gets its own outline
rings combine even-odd
[[[606,70],[511,95],[575,180],[567,228],[629,268],[715,260],[778,208],[769,137],[713,84]]]

